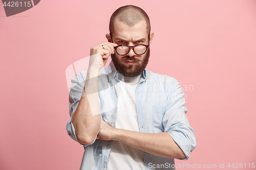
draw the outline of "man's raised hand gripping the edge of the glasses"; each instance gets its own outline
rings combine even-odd
[[[99,71],[101,68],[103,68],[106,64],[106,61],[108,61],[109,56],[115,53],[115,46],[117,46],[117,44],[111,42],[101,42],[95,46],[92,46],[89,69]]]

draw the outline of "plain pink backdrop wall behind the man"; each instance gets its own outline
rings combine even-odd
[[[256,163],[256,1],[42,0],[12,17],[0,6],[0,169],[79,169],[83,147],[65,129],[65,71],[106,41],[111,14],[130,4],[155,33],[147,69],[186,94],[198,146],[176,163]]]

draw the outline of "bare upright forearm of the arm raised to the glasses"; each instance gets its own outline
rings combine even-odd
[[[88,69],[86,82],[76,111],[72,115],[77,140],[91,144],[100,129],[98,70]]]

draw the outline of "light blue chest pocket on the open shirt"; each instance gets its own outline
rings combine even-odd
[[[164,113],[165,113],[165,106],[153,106],[152,130],[154,133],[164,132],[164,128],[163,128]]]

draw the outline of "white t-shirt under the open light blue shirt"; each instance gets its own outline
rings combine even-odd
[[[116,128],[139,132],[136,111],[136,87],[142,74],[135,78],[123,77],[119,82]],[[110,151],[108,170],[145,169],[142,151],[115,140]]]

